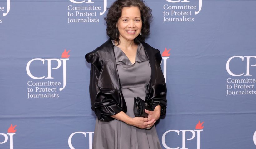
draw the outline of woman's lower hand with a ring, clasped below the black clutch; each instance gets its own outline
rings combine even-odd
[[[151,128],[155,124],[155,122],[156,122],[155,119],[151,119],[149,121],[148,118],[134,117],[131,119],[130,124],[129,123],[128,124],[141,129],[145,129],[145,128]]]

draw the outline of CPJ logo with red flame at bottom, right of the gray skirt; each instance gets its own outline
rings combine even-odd
[[[197,149],[200,149],[200,133],[201,131],[203,131],[203,128],[204,126],[202,126],[204,122],[198,122],[195,126],[195,130],[168,130],[166,131],[163,136],[162,136],[162,144],[163,146],[166,148],[166,149],[190,149],[189,148],[186,148],[186,140],[192,140],[195,138],[195,136],[197,136]],[[175,148],[171,148],[170,145],[167,146],[166,144],[166,134],[167,133],[177,133],[177,135],[180,135],[180,132],[181,132],[181,135],[182,135],[182,147],[175,147]],[[192,133],[192,137],[191,138],[186,138],[186,134],[187,133]],[[171,139],[171,138],[170,138]],[[195,147],[191,147],[192,148],[195,148]]]

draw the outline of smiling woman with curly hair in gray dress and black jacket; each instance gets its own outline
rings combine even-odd
[[[94,149],[160,149],[154,123],[166,112],[161,54],[144,42],[151,9],[141,0],[116,0],[105,18],[108,41],[86,54],[91,63],[90,97],[97,119]],[[151,106],[135,117],[134,97]]]

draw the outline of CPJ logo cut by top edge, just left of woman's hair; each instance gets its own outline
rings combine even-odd
[[[72,5],[67,6],[67,16],[68,24],[69,23],[98,23],[99,13],[100,16],[106,12],[107,9],[107,0],[103,1],[103,12],[101,5],[94,5],[92,0],[69,0],[72,2]],[[84,5],[88,4],[88,5]]]

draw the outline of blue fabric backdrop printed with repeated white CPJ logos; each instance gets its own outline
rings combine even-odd
[[[0,148],[91,149],[85,54],[113,0],[0,0]],[[256,148],[256,1],[145,0],[162,53],[163,149]]]

